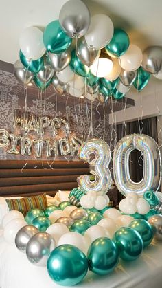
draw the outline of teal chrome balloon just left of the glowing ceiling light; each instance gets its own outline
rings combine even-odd
[[[74,50],[73,52],[71,52],[71,61],[69,65],[71,67],[71,70],[75,72],[76,74],[82,77],[88,76],[89,68],[86,65],[82,64],[78,56],[76,56],[76,53]]]

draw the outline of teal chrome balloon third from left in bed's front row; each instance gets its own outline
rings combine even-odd
[[[134,261],[143,252],[143,241],[139,233],[130,227],[122,227],[113,236],[119,248],[120,258],[125,261]]]

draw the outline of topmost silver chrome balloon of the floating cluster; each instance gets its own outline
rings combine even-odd
[[[81,0],[69,0],[60,10],[60,25],[71,38],[84,36],[90,21],[89,9]]]

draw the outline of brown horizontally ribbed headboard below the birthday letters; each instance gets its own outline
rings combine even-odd
[[[0,160],[0,196],[30,196],[40,192],[54,196],[58,190],[78,186],[76,178],[89,174],[89,164],[79,161],[58,161],[53,169],[44,162],[28,161],[23,171],[23,160]],[[38,165],[37,168],[34,168]]]

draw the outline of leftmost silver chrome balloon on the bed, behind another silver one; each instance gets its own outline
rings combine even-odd
[[[23,253],[26,252],[27,243],[30,241],[32,236],[38,233],[38,229],[32,225],[24,226],[17,232],[15,238],[16,247]]]

